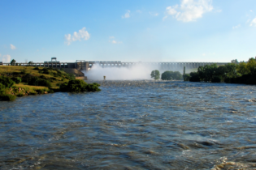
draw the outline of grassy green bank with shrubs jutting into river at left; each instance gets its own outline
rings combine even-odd
[[[85,83],[63,70],[33,66],[0,66],[0,100],[16,96],[54,93],[58,91],[101,91],[98,83]]]

